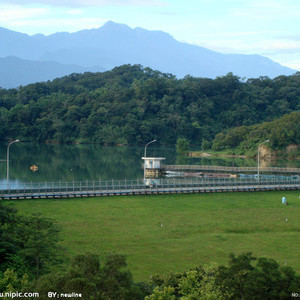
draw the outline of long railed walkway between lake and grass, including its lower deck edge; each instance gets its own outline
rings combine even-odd
[[[1,199],[67,198],[131,194],[196,193],[300,189],[298,177],[254,178],[168,178],[144,180],[97,180],[39,182],[0,185]]]

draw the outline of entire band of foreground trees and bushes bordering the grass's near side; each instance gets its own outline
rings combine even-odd
[[[137,283],[123,255],[100,260],[87,253],[69,261],[59,246],[60,228],[50,219],[0,204],[0,222],[1,299],[33,291],[39,299],[290,299],[300,290],[291,267],[251,253],[231,254],[227,265],[209,263]]]

